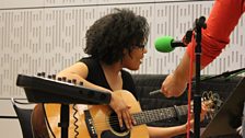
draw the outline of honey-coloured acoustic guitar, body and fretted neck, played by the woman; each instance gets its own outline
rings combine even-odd
[[[147,123],[173,118],[187,114],[187,105],[142,112],[135,96],[125,90],[115,91],[131,106],[130,113],[136,120],[132,129],[119,127],[116,113],[107,105],[92,105],[79,114],[70,105],[69,138],[149,138]],[[56,138],[60,138],[60,104],[46,104],[47,123]]]

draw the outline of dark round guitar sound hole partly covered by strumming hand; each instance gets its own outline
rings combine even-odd
[[[110,116],[109,116],[109,125],[117,133],[125,133],[125,131],[128,130],[126,125],[125,125],[125,123],[124,123],[122,127],[120,127],[119,120],[117,118],[117,114],[116,113],[112,113],[110,114]]]

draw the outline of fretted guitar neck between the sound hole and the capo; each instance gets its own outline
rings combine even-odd
[[[180,105],[175,107],[167,107],[167,108],[159,108],[152,111],[145,111],[141,113],[132,114],[136,125],[152,123],[156,120],[163,120],[167,118],[174,118],[177,116],[187,115],[188,106]]]

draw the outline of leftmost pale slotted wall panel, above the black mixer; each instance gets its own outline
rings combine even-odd
[[[43,70],[43,10],[1,11],[1,96],[21,96],[18,73]]]

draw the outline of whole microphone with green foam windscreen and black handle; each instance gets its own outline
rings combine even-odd
[[[174,41],[172,36],[161,36],[155,39],[155,48],[161,53],[170,53],[175,49],[175,47],[186,47],[182,41]]]

